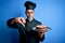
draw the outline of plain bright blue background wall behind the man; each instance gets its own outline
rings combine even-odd
[[[8,28],[6,20],[25,15],[26,0],[0,0],[0,43],[18,43],[18,30]],[[65,43],[65,1],[30,0],[37,3],[35,18],[52,28],[43,43]]]

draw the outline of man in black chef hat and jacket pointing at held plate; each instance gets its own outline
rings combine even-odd
[[[18,29],[20,32],[20,43],[39,43],[39,41],[44,40],[44,32],[48,30],[47,26],[42,26],[40,22],[34,18],[34,11],[36,9],[36,3],[26,1],[26,16],[11,18],[6,22],[10,28]],[[34,29],[36,27],[36,29]]]

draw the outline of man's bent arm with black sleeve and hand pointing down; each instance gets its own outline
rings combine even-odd
[[[25,19],[23,17],[11,18],[6,22],[9,28],[17,28],[17,23],[22,24],[25,27]]]

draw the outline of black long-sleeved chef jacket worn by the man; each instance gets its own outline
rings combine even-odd
[[[34,27],[41,25],[40,22],[36,20],[35,18],[29,22],[28,19],[26,19],[26,24],[25,27],[23,27],[22,24],[20,23],[14,23],[13,25],[11,25],[11,22],[14,18],[11,18],[6,22],[6,25],[9,28],[15,28],[18,29],[20,32],[20,43],[39,43],[39,41],[43,41],[44,40],[44,34],[41,39],[39,39],[39,34],[38,32],[36,32],[35,30],[32,30]]]

